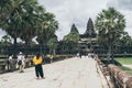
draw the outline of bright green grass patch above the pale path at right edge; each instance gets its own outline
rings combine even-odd
[[[132,64],[132,57],[117,57],[114,58],[116,61],[118,61],[119,63],[121,63],[122,65],[130,65]]]

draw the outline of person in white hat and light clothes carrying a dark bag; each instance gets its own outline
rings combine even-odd
[[[18,65],[19,65],[20,73],[23,73],[24,65],[25,65],[25,58],[24,58],[24,55],[22,54],[22,52],[20,52],[18,55]]]

